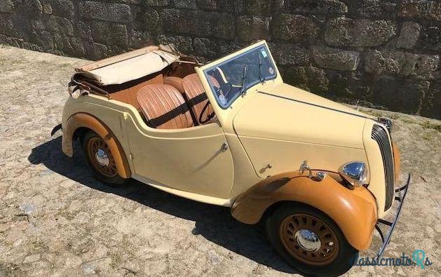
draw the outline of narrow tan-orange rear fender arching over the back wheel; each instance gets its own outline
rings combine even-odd
[[[67,119],[65,126],[62,126],[62,151],[69,157],[74,155],[74,149],[72,148],[72,139],[75,131],[78,128],[88,128],[100,135],[109,146],[111,155],[115,159],[116,170],[118,175],[122,178],[130,178],[130,168],[127,158],[124,154],[121,144],[119,144],[115,135],[111,133],[111,130],[107,128],[99,119],[96,119],[90,114],[78,113],[74,114]]]

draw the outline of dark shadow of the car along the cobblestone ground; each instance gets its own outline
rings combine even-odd
[[[79,145],[75,143],[74,153],[79,153],[78,150]],[[109,187],[93,178],[81,154],[69,158],[62,153],[61,137],[32,149],[28,160],[32,164],[43,163],[49,170],[90,189],[116,194],[169,215],[194,221],[195,228],[192,234],[201,235],[217,245],[272,269],[297,273],[273,250],[262,227],[238,222],[231,217],[229,208],[174,196],[136,180],[130,180],[123,187]]]

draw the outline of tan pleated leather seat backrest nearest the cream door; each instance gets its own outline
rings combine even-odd
[[[181,129],[193,126],[184,97],[170,85],[144,86],[137,93],[137,103],[147,119],[147,125],[152,128]]]

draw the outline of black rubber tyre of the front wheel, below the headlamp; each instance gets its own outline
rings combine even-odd
[[[311,216],[310,218],[312,219],[312,221],[314,221],[313,218],[321,221],[321,223],[329,227],[329,229],[334,233],[332,238],[337,239],[336,245],[338,246],[337,248],[334,248],[335,253],[332,254],[333,258],[331,261],[327,262],[328,264],[307,264],[306,262],[308,261],[304,262],[301,259],[297,259],[295,257],[295,254],[292,254],[295,251],[304,252],[304,249],[298,247],[299,243],[295,245],[295,248],[297,249],[291,248],[292,250],[288,250],[288,246],[285,246],[287,245],[287,243],[283,242],[286,241],[286,239],[283,238],[283,232],[291,230],[290,228],[292,227],[291,224],[290,228],[281,229],[283,228],[283,226],[286,226],[285,224],[283,224],[283,222],[286,222],[285,220],[291,220],[294,218],[304,218],[302,217],[304,215]],[[299,231],[299,229],[300,227],[298,227],[297,225],[294,226],[293,230]],[[285,203],[283,205],[280,205],[266,219],[266,232],[269,237],[269,241],[271,241],[274,248],[276,248],[277,252],[283,257],[283,259],[285,259],[285,261],[290,264],[290,266],[299,271],[299,273],[302,273],[306,276],[339,276],[351,269],[356,257],[358,256],[358,250],[353,248],[352,245],[350,245],[348,241],[346,241],[344,234],[341,232],[337,224],[330,217],[325,215],[325,213],[308,205],[302,205],[300,203]],[[290,235],[287,235],[286,237],[289,236]],[[294,245],[294,243],[290,245]],[[320,245],[323,246],[323,243],[320,243]],[[311,252],[318,253],[317,251],[309,251],[308,255],[312,255]]]

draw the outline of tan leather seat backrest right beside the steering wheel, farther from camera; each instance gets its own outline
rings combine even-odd
[[[199,80],[198,74],[195,73],[185,76],[184,79],[182,79],[182,88],[184,88],[184,94],[187,98],[186,100],[189,103],[190,109],[193,110],[196,120],[199,120],[202,109],[208,102],[208,98],[201,80]],[[201,119],[205,121],[208,118],[208,115],[212,112],[213,109],[211,104],[209,104]]]

